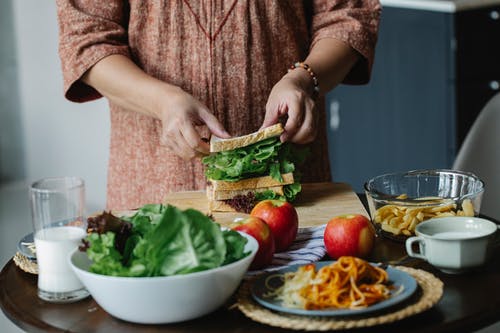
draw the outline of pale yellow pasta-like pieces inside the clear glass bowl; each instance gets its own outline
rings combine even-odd
[[[396,199],[406,199],[406,194]],[[415,200],[422,201],[422,205],[402,206],[401,204],[388,204],[378,208],[373,216],[373,221],[380,224],[382,230],[394,235],[412,236],[415,227],[424,220],[444,216],[474,216],[474,206],[470,199],[462,202],[461,209],[451,199],[439,197],[424,197]]]

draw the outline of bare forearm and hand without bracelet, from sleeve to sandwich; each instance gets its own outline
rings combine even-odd
[[[116,54],[101,59],[82,80],[123,109],[159,119],[159,144],[184,159],[209,153],[201,127],[218,137],[230,137],[200,101],[181,88],[146,74],[125,56]]]

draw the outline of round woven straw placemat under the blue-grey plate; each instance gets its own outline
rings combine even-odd
[[[410,267],[397,266],[417,280],[419,288],[417,293],[403,305],[395,305],[386,312],[377,312],[365,316],[353,317],[310,317],[299,316],[269,310],[253,300],[250,294],[252,280],[245,281],[238,291],[238,302],[236,306],[245,316],[257,322],[305,331],[327,331],[350,328],[369,327],[387,324],[403,318],[413,316],[434,306],[443,295],[443,282],[433,274]]]

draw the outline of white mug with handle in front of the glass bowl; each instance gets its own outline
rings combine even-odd
[[[406,240],[406,252],[445,273],[462,273],[486,262],[497,229],[495,223],[479,217],[430,219],[418,224],[416,236]]]

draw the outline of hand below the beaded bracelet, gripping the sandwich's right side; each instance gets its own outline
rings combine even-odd
[[[262,128],[286,118],[282,142],[305,144],[316,138],[318,114],[309,73],[297,68],[287,73],[271,90]]]

